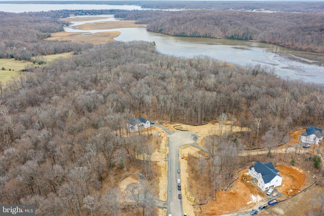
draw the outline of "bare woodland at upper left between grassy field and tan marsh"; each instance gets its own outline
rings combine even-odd
[[[91,44],[42,41],[53,32],[63,31],[67,24],[45,13],[0,12],[0,19],[0,58],[30,61],[32,56],[79,52],[92,47]]]

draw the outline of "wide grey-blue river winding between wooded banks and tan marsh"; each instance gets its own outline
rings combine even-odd
[[[101,31],[120,31],[116,41],[149,41],[155,42],[158,52],[178,57],[194,57],[200,55],[239,65],[266,65],[275,73],[288,79],[305,82],[324,83],[324,65],[316,61],[296,56],[301,51],[283,48],[273,44],[251,41],[236,41],[226,39],[185,38],[149,32],[146,28],[116,28],[81,30],[75,26],[88,22],[118,21],[112,15],[101,20],[72,22],[65,28],[68,32],[96,33]],[[308,52],[308,54],[310,54]],[[314,55],[320,55],[313,53]]]

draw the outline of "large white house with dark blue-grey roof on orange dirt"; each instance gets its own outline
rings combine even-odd
[[[281,185],[282,177],[278,172],[279,170],[274,168],[272,162],[262,163],[258,161],[249,168],[249,174],[258,180],[258,186],[262,191]]]

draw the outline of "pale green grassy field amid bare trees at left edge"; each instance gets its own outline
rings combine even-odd
[[[71,53],[62,53],[55,55],[47,55],[40,58],[47,63],[51,61],[55,61],[59,58],[68,58],[71,56]],[[0,59],[0,81],[5,84],[8,80],[10,80],[13,76],[16,76],[19,73],[19,70],[25,69],[28,65],[35,65],[32,62],[28,61],[17,61],[13,58],[1,58]],[[44,64],[43,64],[44,65]],[[5,68],[4,70],[2,68]]]

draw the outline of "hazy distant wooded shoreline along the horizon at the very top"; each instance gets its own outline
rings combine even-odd
[[[249,1],[3,1],[0,4],[91,4],[138,5],[152,9],[267,10],[281,12],[322,13],[324,2],[249,2]]]

